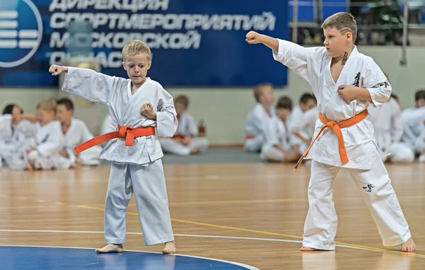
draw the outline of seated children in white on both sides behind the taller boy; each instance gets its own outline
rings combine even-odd
[[[312,94],[302,94],[293,107],[288,96],[273,106],[273,86],[254,87],[256,106],[248,113],[245,125],[244,149],[259,152],[268,162],[295,162],[312,142],[319,111]],[[425,162],[425,90],[416,91],[415,106],[401,111],[398,97],[376,108],[368,107],[375,133],[375,144],[382,160],[393,163],[412,163],[415,157]]]

